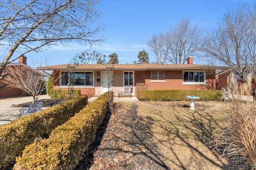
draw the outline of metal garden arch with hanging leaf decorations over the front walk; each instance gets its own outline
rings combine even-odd
[[[91,48],[90,48],[91,49]],[[89,50],[90,50],[89,49]],[[106,60],[109,60],[106,55],[103,55],[96,51],[84,51],[75,55],[67,66],[67,74],[68,74],[68,95],[70,98],[74,98],[74,79],[75,79],[75,72],[76,68],[82,66],[83,64],[91,64],[94,61],[101,61],[101,64],[106,66],[107,75],[108,75],[108,103],[110,106],[110,111],[113,111],[114,104],[113,104],[113,83],[114,83],[114,64],[109,64]]]

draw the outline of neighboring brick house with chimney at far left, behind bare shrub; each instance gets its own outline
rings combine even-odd
[[[10,63],[6,65],[6,68],[4,69],[4,72],[8,72],[8,69],[14,69],[14,67],[24,67],[30,70],[33,70],[34,72],[39,72],[38,70],[30,67],[27,65],[27,57],[23,56],[19,58],[19,63]],[[27,74],[27,73],[24,73]],[[40,73],[42,74],[42,73]],[[8,75],[7,75],[8,76]],[[4,85],[4,79],[0,81],[0,86]],[[0,90],[0,97],[2,98],[9,98],[9,97],[18,97],[18,96],[28,96],[28,94],[19,88],[11,87],[10,85],[6,84],[6,86]]]

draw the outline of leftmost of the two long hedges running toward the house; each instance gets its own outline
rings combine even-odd
[[[0,169],[20,156],[26,145],[48,137],[53,129],[83,109],[87,100],[87,96],[81,96],[0,126]]]

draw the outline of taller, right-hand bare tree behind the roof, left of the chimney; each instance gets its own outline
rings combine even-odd
[[[185,64],[189,56],[197,57],[202,45],[202,32],[197,25],[182,20],[170,28],[164,40],[164,52],[168,62]]]

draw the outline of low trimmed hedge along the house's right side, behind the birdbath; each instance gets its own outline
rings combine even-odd
[[[201,101],[221,101],[221,90],[138,90],[137,98],[143,101],[182,101],[186,96],[198,96]]]

